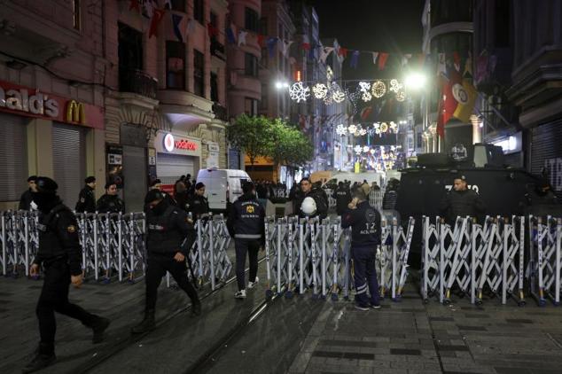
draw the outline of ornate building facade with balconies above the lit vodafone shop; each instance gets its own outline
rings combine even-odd
[[[155,178],[170,191],[180,175],[227,166],[227,3],[130,4],[105,4],[105,143],[107,177],[135,211]]]

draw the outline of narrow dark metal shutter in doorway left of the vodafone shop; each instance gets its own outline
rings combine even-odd
[[[146,194],[146,149],[123,145],[123,198],[127,212],[142,212]]]

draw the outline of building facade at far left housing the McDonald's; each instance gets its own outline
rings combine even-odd
[[[17,208],[27,175],[54,178],[71,207],[87,175],[105,180],[103,4],[84,3],[0,9],[0,210]]]

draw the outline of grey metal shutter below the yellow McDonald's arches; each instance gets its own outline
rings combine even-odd
[[[59,196],[71,209],[76,204],[86,177],[86,136],[84,129],[53,123],[52,168],[59,184]]]

